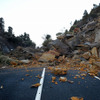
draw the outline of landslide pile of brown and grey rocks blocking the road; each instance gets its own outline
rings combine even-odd
[[[82,19],[83,20],[83,19]],[[48,67],[54,75],[65,75],[69,69],[98,75],[100,71],[100,16],[80,21],[67,34],[48,42],[47,50],[17,47],[7,56],[13,67]],[[12,59],[12,60],[11,60]],[[6,62],[6,59],[3,60]]]

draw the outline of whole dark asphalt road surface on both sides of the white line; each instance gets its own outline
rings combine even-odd
[[[37,88],[30,86],[40,81],[35,76],[41,75],[42,70],[43,68],[0,69],[0,86],[3,85],[0,100],[34,100]],[[76,74],[79,74],[78,71],[70,70],[65,75],[68,80],[74,81],[73,84],[59,82],[60,76],[56,76],[56,85],[51,82],[52,74],[46,69],[41,100],[69,100],[72,96],[83,97],[84,100],[100,100],[100,80],[88,75],[85,79],[74,79]]]

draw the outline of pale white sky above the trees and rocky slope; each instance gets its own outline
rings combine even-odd
[[[69,30],[71,22],[82,18],[99,0],[0,0],[0,17],[4,18],[5,30],[8,26],[18,36],[24,32],[41,46],[45,35],[56,39],[56,33]]]

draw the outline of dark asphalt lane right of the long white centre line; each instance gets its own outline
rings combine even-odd
[[[100,80],[88,75],[84,77],[85,79],[74,79],[77,74],[78,71],[68,71],[66,75],[68,80],[74,81],[73,84],[61,83],[58,81],[59,76],[57,76],[58,85],[55,85],[51,83],[52,75],[46,73],[42,100],[69,100],[72,96],[83,97],[84,100],[100,100]]]

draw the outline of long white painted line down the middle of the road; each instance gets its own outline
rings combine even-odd
[[[41,84],[41,85],[38,87],[35,100],[41,100],[41,94],[42,94],[44,76],[45,76],[45,68],[43,68],[43,71],[42,71],[42,75],[41,75],[42,78],[41,78],[41,80],[40,80],[40,84]]]

